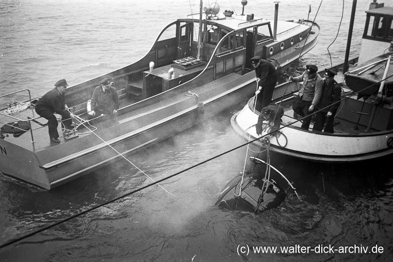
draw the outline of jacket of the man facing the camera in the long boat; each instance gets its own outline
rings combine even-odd
[[[113,109],[119,109],[119,105],[119,96],[113,86],[110,86],[105,92],[101,85],[94,89],[91,97],[91,110],[98,109],[103,112],[110,112]]]

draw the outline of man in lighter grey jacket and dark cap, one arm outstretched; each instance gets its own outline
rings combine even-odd
[[[316,65],[307,65],[302,75],[295,78],[289,77],[289,81],[303,81],[299,95],[292,104],[295,113],[301,117],[309,116],[303,119],[301,127],[303,130],[309,130],[311,115],[322,95],[323,79],[317,74],[317,71],[318,67]]]

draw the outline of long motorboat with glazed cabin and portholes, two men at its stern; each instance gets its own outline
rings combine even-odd
[[[220,11],[217,2],[200,9],[165,26],[137,62],[70,86],[65,100],[77,118],[74,129],[61,129],[59,144],[34,110],[40,97],[29,89],[1,96],[1,173],[46,189],[91,173],[252,97],[254,55],[285,68],[317,43],[319,26],[278,21],[278,3],[274,21],[247,8]],[[102,79],[112,80],[120,108],[115,119],[88,120]]]

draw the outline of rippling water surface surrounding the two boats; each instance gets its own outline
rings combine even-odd
[[[359,52],[370,1],[358,0],[351,56]],[[240,0],[218,2],[241,12]],[[311,4],[312,20],[319,3],[281,0],[279,19],[307,18]],[[351,5],[345,1],[340,34],[329,48],[333,64],[343,59]],[[336,37],[341,8],[340,0],[322,2],[315,19],[319,42],[302,64],[330,66],[327,47]],[[0,95],[29,88],[38,96],[58,79],[75,84],[132,63],[164,26],[197,10],[196,0],[3,0]],[[273,18],[274,3],[250,0],[245,13]],[[230,117],[243,105],[127,156],[138,168],[119,160],[51,191],[0,176],[0,244],[147,185],[152,181],[146,175],[157,181],[243,144],[230,127]],[[321,165],[274,155],[273,165],[302,201],[290,194],[279,208],[260,215],[216,208],[245,157],[243,147],[160,183],[165,190],[151,186],[6,246],[0,261],[392,261],[391,157]],[[279,249],[239,256],[247,246]],[[308,246],[324,252],[302,252]],[[294,249],[282,254],[283,247]]]

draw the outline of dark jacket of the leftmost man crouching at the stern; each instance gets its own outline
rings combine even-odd
[[[64,110],[64,94],[58,91],[57,87],[43,95],[35,105],[35,111],[50,110],[52,113],[59,114],[65,118],[70,117],[70,112]]]

